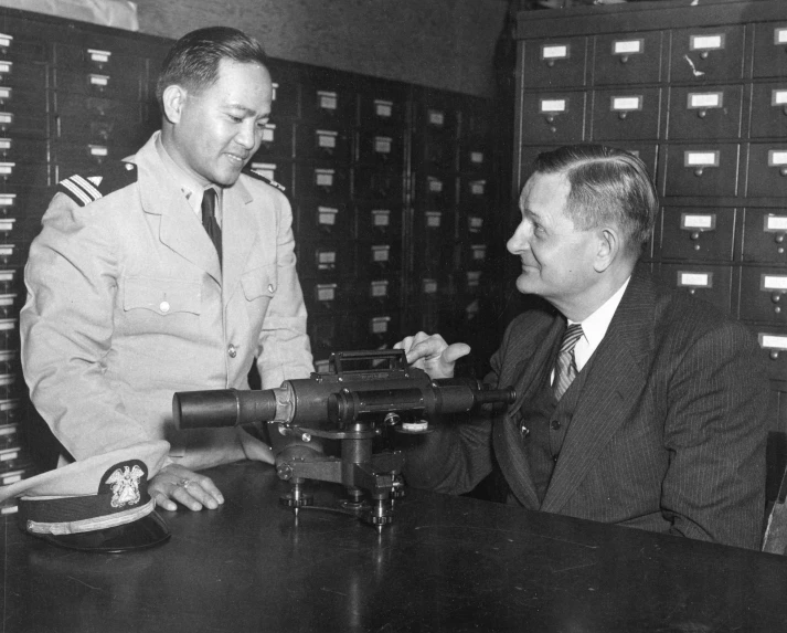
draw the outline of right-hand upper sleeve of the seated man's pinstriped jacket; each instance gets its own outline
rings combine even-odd
[[[677,358],[667,397],[662,513],[673,534],[757,549],[768,400],[757,345],[726,321]]]

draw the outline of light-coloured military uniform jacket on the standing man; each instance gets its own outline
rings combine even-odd
[[[173,392],[248,389],[255,358],[264,388],[312,370],[285,196],[246,173],[224,189],[221,266],[157,137],[127,159],[136,179],[57,193],[30,249],[24,377],[75,458],[167,437]]]

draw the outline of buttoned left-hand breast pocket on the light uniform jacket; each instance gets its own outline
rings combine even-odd
[[[123,294],[126,334],[196,333],[201,305],[199,281],[128,277]]]

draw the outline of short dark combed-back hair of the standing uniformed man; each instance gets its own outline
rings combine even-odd
[[[262,44],[243,31],[228,27],[198,29],[183,35],[167,53],[156,85],[159,105],[164,89],[173,84],[200,92],[215,83],[222,60],[266,67],[268,63]]]

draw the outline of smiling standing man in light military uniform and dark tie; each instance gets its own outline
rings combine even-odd
[[[312,370],[291,210],[246,170],[270,115],[262,46],[201,29],[168,54],[162,127],[132,157],[60,183],[33,242],[21,313],[31,400],[60,465],[139,442],[170,451],[150,494],[164,509],[223,503],[194,471],[274,462],[236,429],[172,423],[172,394],[263,388]]]

